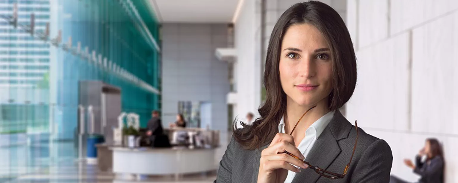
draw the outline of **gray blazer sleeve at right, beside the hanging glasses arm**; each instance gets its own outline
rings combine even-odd
[[[352,183],[390,182],[393,153],[385,140],[376,140],[364,151],[351,177]]]

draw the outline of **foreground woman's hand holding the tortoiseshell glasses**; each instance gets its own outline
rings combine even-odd
[[[269,147],[261,153],[258,183],[283,183],[288,176],[288,170],[300,172],[300,169],[293,165],[302,168],[308,167],[304,162],[283,153],[284,151],[305,159],[299,149],[294,145],[293,136],[278,133],[273,138]]]

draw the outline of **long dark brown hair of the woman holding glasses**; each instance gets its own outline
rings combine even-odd
[[[286,10],[273,27],[267,48],[264,86],[266,101],[258,109],[261,118],[238,129],[234,123],[234,139],[245,149],[256,149],[269,143],[278,133],[278,123],[286,111],[286,94],[279,78],[278,64],[281,43],[292,25],[308,23],[315,26],[331,46],[333,58],[333,89],[329,109],[341,108],[352,96],[356,85],[356,58],[350,34],[344,21],[330,6],[319,1],[297,3]]]

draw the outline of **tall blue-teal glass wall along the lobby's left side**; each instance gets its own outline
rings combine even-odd
[[[160,110],[159,24],[145,2],[0,0],[1,167],[75,156],[49,142],[75,140],[81,81],[119,87],[122,111],[142,126]]]

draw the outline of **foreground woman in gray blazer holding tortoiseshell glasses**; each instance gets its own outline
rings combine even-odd
[[[264,85],[261,118],[242,129],[234,125],[215,182],[389,182],[388,144],[352,126],[338,110],[354,92],[356,59],[333,8],[309,1],[280,16]]]

